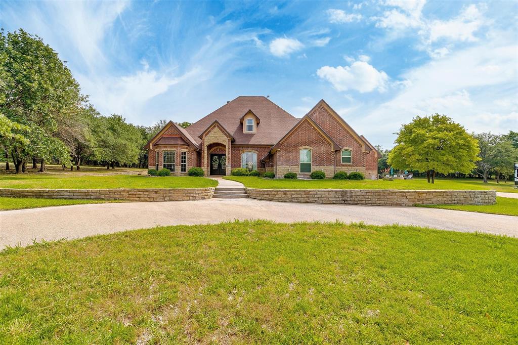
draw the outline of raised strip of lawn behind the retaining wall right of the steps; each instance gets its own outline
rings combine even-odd
[[[251,176],[225,176],[224,179],[238,181],[249,188],[264,189],[404,189],[404,190],[495,190],[497,192],[518,193],[512,183],[482,183],[477,179],[436,179],[428,183],[426,179],[412,180],[290,180],[263,179]]]

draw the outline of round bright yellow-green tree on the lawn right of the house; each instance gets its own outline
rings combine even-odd
[[[402,125],[388,162],[396,169],[426,171],[428,183],[437,172],[467,174],[479,160],[477,140],[444,115],[415,117]]]

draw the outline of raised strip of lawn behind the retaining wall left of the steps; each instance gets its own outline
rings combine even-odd
[[[0,188],[112,189],[112,188],[202,188],[217,181],[203,177],[147,177],[139,175],[24,174],[0,175]]]

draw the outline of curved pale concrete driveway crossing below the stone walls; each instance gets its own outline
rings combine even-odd
[[[518,237],[518,217],[417,207],[378,207],[207,199],[189,202],[90,204],[0,212],[0,248],[33,239],[80,238],[156,225],[229,220],[335,221],[428,226]]]

